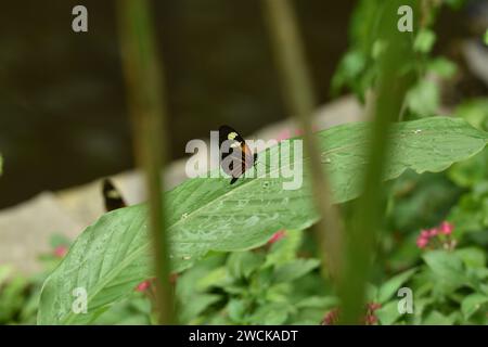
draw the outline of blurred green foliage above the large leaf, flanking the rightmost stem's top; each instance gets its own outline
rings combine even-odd
[[[457,66],[442,56],[431,55],[437,35],[433,27],[437,13],[442,5],[458,10],[463,0],[425,1],[420,7],[413,7],[413,33],[404,33],[404,41],[410,42],[416,55],[407,63],[398,62],[398,70],[414,80],[406,100],[404,119],[418,119],[438,114],[440,91],[438,81],[429,75],[440,78],[451,78]],[[355,10],[350,23],[349,50],[344,54],[333,76],[331,87],[334,94],[343,88],[351,90],[361,101],[368,90],[376,86],[378,72],[378,55],[387,49],[380,37],[380,17],[387,8],[387,1],[362,0]]]

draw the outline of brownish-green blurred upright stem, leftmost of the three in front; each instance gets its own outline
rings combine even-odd
[[[169,283],[169,245],[160,170],[167,159],[167,132],[163,68],[147,0],[117,2],[124,72],[132,120],[136,158],[145,172],[156,271],[156,301],[160,324],[175,323]]]

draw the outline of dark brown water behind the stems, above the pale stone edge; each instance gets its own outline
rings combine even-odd
[[[154,3],[174,158],[220,124],[246,134],[285,117],[258,0]],[[321,102],[354,3],[295,1]],[[70,29],[76,4],[88,8],[88,34]],[[133,166],[114,9],[107,0],[2,2],[0,207]]]

